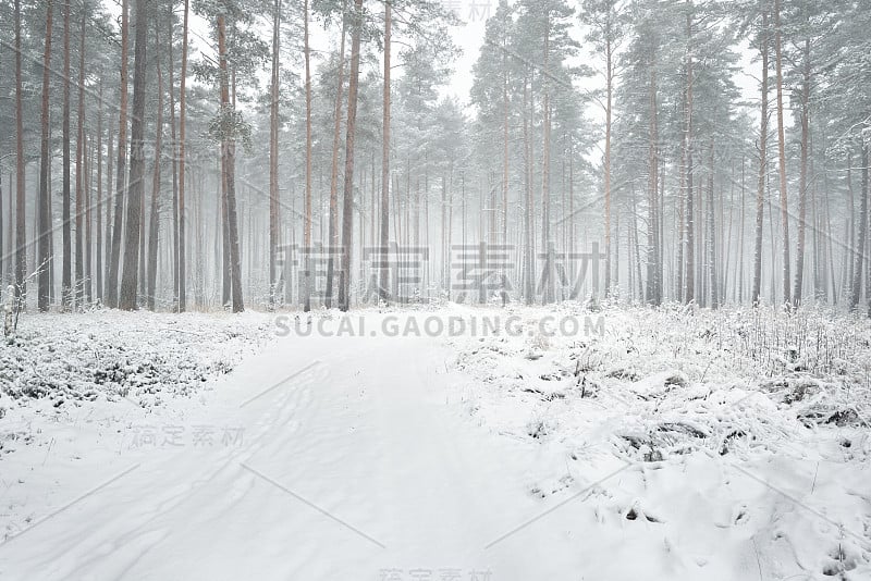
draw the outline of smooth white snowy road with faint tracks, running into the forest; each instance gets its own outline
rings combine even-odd
[[[459,411],[451,355],[279,339],[185,419],[238,425],[242,445],[125,450],[114,478],[79,475],[75,500],[0,544],[0,577],[580,578],[571,505],[529,522],[554,506],[529,493],[541,452]]]

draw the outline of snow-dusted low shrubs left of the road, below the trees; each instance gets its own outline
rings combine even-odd
[[[271,336],[258,313],[24,314],[0,344],[0,460],[34,440],[39,419],[105,403],[144,416],[195,396]]]

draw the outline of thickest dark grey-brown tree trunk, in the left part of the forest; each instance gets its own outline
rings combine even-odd
[[[121,275],[119,308],[136,309],[139,268],[139,228],[145,193],[145,91],[146,45],[148,42],[149,0],[136,0],[136,39],[133,49],[133,111],[130,126],[130,184],[127,220],[124,231],[124,268]]]

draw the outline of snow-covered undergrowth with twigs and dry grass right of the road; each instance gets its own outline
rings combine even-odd
[[[551,457],[530,494],[580,495],[596,533],[579,551],[610,571],[602,579],[871,579],[866,319],[572,305],[513,314],[524,333],[454,339],[470,376],[463,398],[481,423]],[[602,316],[604,333],[549,336],[540,321],[554,316]],[[611,475],[615,457],[625,463]]]

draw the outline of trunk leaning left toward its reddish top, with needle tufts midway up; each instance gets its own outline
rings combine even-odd
[[[242,265],[238,251],[238,220],[236,215],[236,180],[235,157],[236,140],[226,121],[235,116],[235,109],[230,102],[230,85],[226,70],[226,21],[223,14],[218,15],[218,51],[220,54],[221,75],[221,116],[224,120],[222,131],[221,154],[223,158],[224,182],[226,185],[226,225],[230,245],[230,280],[233,297],[233,312],[242,312],[245,305],[242,300]],[[230,134],[230,135],[228,135]]]

